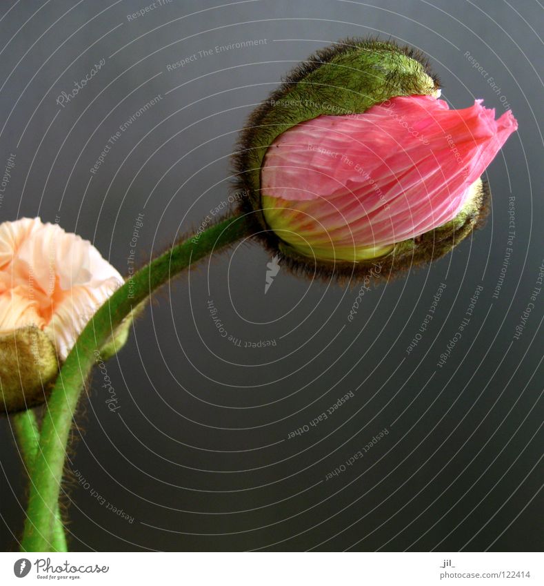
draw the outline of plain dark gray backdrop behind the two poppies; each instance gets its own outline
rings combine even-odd
[[[434,266],[366,293],[353,323],[358,286],[281,268],[264,295],[270,257],[255,244],[161,291],[107,364],[119,410],[108,410],[99,373],[83,401],[70,468],[88,486],[72,478],[64,497],[71,549],[541,550],[541,305],[513,338],[543,262],[541,6],[174,0],[127,19],[148,4],[23,0],[1,9],[0,168],[10,153],[16,166],[0,219],[59,216],[121,273],[137,215],[139,262],[199,226],[227,197],[230,153],[252,108],[337,39],[372,34],[415,46],[450,106],[483,98],[499,115],[507,102],[519,130],[487,170],[485,229]],[[248,39],[266,43],[214,49]],[[102,58],[97,76],[60,108],[57,96]],[[90,180],[110,135],[159,94]],[[514,252],[492,299],[511,195]],[[408,354],[441,282],[436,317]],[[439,369],[480,284],[470,326]],[[276,346],[221,338],[208,300],[235,338]],[[288,440],[349,391],[328,420]],[[325,480],[384,428],[365,458]],[[16,549],[26,479],[6,418],[0,433],[1,544]]]

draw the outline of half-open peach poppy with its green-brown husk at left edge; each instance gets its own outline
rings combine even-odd
[[[121,284],[123,277],[90,242],[57,224],[39,218],[0,224],[0,394],[6,411],[45,400],[79,333]],[[124,326],[115,338],[119,349]]]

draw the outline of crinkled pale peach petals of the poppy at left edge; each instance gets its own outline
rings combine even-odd
[[[88,240],[39,218],[0,224],[0,264],[0,331],[34,324],[49,335],[61,360],[123,284]]]

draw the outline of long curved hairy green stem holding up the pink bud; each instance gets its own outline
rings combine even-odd
[[[183,268],[251,233],[242,215],[224,219],[134,273],[94,314],[79,335],[57,378],[41,427],[39,451],[30,480],[21,551],[50,551],[57,501],[72,418],[81,389],[114,329],[159,286]]]

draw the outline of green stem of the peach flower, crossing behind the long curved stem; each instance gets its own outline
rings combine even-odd
[[[16,413],[12,416],[13,428],[17,436],[17,442],[21,448],[23,455],[23,462],[26,467],[28,476],[32,476],[32,467],[39,449],[40,430],[36,414],[31,409]],[[61,518],[61,511],[59,503],[56,503],[55,522],[52,534],[52,549],[54,551],[68,551],[66,544],[66,535],[64,533],[64,526]]]

